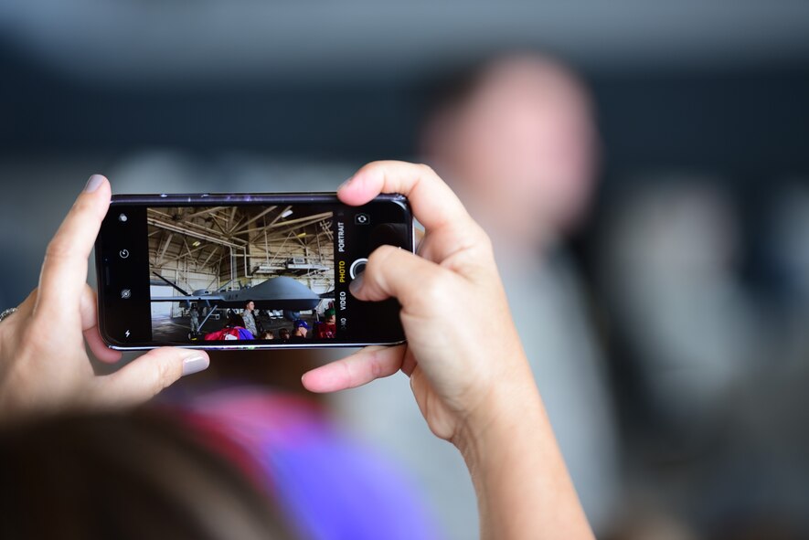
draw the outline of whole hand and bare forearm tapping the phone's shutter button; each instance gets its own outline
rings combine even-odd
[[[408,343],[367,347],[308,372],[303,385],[331,392],[401,370],[432,432],[466,461],[482,538],[592,538],[516,334],[490,239],[426,165],[368,164],[338,190],[349,205],[379,193],[408,196],[426,232],[418,255],[375,250],[350,287],[360,300],[396,297]],[[459,312],[471,316],[461,321]]]

